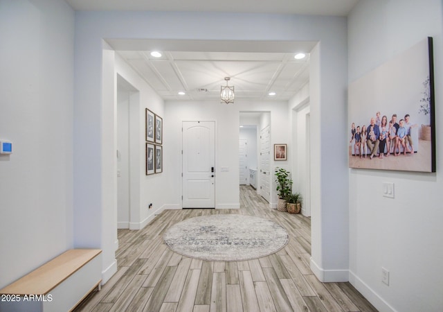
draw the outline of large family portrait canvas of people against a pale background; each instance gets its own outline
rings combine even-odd
[[[350,168],[435,172],[433,40],[349,86]]]

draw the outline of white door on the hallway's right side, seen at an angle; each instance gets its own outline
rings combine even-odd
[[[260,130],[260,195],[269,202],[271,199],[271,131],[269,125]]]

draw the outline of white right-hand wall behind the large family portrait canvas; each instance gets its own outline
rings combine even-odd
[[[350,170],[350,281],[380,311],[443,306],[442,1],[360,1],[348,19],[350,83],[428,36],[434,38],[437,173]],[[382,182],[395,183],[395,199],[382,197]],[[381,282],[382,267],[390,271],[389,286]]]

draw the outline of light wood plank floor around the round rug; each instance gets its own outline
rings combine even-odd
[[[174,223],[208,214],[245,214],[287,229],[288,245],[250,261],[190,259],[163,243]],[[139,231],[118,230],[118,271],[75,311],[377,311],[349,283],[320,283],[309,269],[311,220],[271,209],[240,187],[240,209],[167,210]]]

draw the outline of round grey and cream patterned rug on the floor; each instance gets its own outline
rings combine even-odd
[[[179,254],[208,261],[244,261],[284,248],[289,236],[271,220],[239,214],[215,214],[183,220],[164,234]]]

